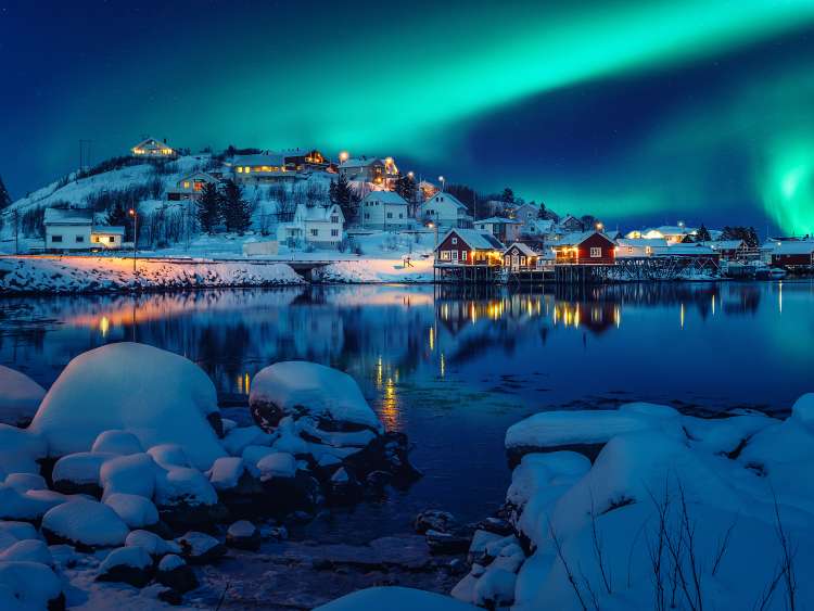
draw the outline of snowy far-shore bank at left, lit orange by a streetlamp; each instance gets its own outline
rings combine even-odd
[[[169,262],[127,257],[4,257],[0,293],[279,287],[305,281],[284,263]]]

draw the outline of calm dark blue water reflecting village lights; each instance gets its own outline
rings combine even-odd
[[[245,394],[254,373],[278,360],[351,373],[385,424],[408,433],[425,473],[406,494],[333,518],[364,538],[399,530],[429,506],[465,519],[487,513],[509,478],[506,429],[540,409],[634,399],[687,410],[788,409],[814,391],[814,284],[363,285],[0,300],[0,362],[44,386],[74,356],[123,340],[187,356],[225,397]],[[226,411],[247,418],[242,408]]]

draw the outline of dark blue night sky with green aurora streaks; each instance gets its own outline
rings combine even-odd
[[[814,1],[0,0],[22,196],[142,135],[393,155],[609,224],[814,231]]]

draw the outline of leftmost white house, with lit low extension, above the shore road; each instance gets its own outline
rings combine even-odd
[[[120,249],[124,227],[93,226],[90,208],[46,208],[46,250]]]

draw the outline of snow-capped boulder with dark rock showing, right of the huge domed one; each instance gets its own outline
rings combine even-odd
[[[356,381],[316,362],[284,361],[260,370],[252,380],[249,405],[266,430],[276,428],[284,416],[292,416],[308,417],[329,432],[383,431]]]

